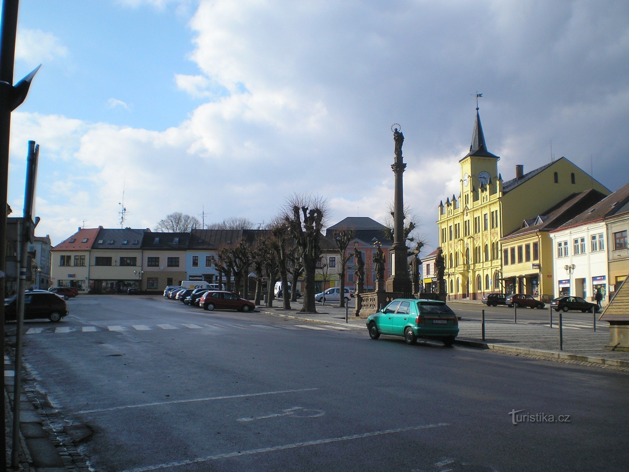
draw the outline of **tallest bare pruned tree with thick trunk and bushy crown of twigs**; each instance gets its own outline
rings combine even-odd
[[[303,251],[304,304],[301,313],[316,313],[315,272],[321,259],[321,230],[328,215],[328,202],[318,196],[294,194],[287,198],[282,211],[295,244]]]

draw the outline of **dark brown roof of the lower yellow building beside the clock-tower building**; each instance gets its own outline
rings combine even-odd
[[[587,210],[587,208],[590,208],[594,203],[601,201],[603,198],[605,198],[605,195],[595,189],[589,189],[581,193],[573,193],[571,196],[564,198],[556,205],[548,208],[542,215],[538,215],[537,224],[526,225],[525,220],[519,230],[506,235],[501,240],[511,239],[515,236],[521,236],[527,233],[551,231],[559,228],[565,222]]]

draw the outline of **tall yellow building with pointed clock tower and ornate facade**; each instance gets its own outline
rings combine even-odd
[[[439,242],[445,257],[445,279],[450,298],[481,298],[504,291],[500,240],[550,206],[574,193],[603,185],[565,157],[503,181],[497,155],[487,150],[481,118],[476,110],[470,151],[459,160],[459,198],[452,195],[439,205]]]

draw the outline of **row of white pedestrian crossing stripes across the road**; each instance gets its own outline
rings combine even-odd
[[[32,327],[25,334],[61,334],[61,333],[94,333],[94,332],[135,332],[153,330],[268,330],[280,332],[281,330],[317,330],[317,331],[348,331],[350,328],[335,325],[261,325],[261,324],[231,324],[220,325],[216,323],[161,323],[157,325],[103,325],[103,326],[56,326],[56,327]]]

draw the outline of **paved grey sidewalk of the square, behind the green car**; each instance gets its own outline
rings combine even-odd
[[[479,301],[471,301],[480,303]],[[354,303],[350,301],[348,323],[345,324],[345,308],[337,305],[316,304],[318,313],[299,313],[301,301],[292,303],[291,310],[283,310],[275,300],[273,308],[258,306],[257,310],[267,315],[292,318],[296,320],[342,325],[354,329],[367,329],[366,318],[353,317]],[[548,322],[504,322],[491,321],[485,323],[486,339],[482,340],[482,323],[480,320],[461,320],[459,337],[455,344],[460,346],[491,349],[492,351],[509,352],[511,354],[528,354],[531,356],[548,357],[566,361],[588,362],[604,366],[615,366],[629,371],[629,352],[615,352],[603,349],[610,339],[609,323],[597,322],[596,332],[591,324],[564,322],[564,349],[559,350],[559,317],[554,318],[553,327]],[[366,332],[365,332],[365,335]]]

